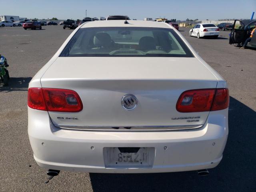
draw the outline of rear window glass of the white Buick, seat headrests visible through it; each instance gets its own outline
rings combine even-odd
[[[194,57],[170,28],[93,27],[80,28],[61,57]]]

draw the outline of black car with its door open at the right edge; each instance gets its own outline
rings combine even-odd
[[[256,26],[256,20],[235,20],[230,33],[229,44],[234,44],[235,47],[240,47],[245,40],[250,37],[252,30]],[[246,45],[256,48],[256,33],[252,35],[252,40]]]

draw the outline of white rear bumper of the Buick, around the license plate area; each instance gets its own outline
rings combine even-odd
[[[214,168],[222,159],[227,114],[228,109],[210,112],[206,124],[194,130],[107,132],[59,129],[48,112],[28,108],[28,134],[34,159],[43,168],[100,173],[199,170]],[[154,147],[154,164],[151,168],[105,168],[104,147]]]

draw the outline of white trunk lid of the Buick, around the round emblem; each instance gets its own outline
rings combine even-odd
[[[80,112],[49,112],[58,126],[191,126],[204,124],[209,112],[180,113],[178,98],[186,90],[216,88],[217,78],[197,58],[59,57],[41,84],[74,90],[82,100]],[[138,99],[135,109],[122,107],[126,94]]]

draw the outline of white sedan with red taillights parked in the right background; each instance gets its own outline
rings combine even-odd
[[[211,36],[213,38],[218,38],[220,34],[220,28],[211,23],[200,23],[195,25],[189,31],[189,36],[197,37],[198,39],[205,36]]]

